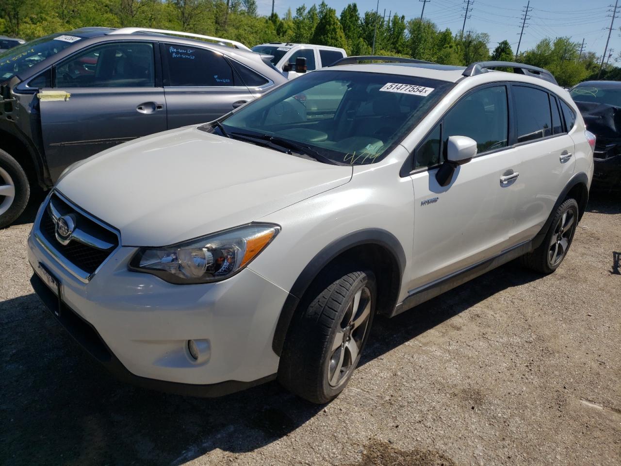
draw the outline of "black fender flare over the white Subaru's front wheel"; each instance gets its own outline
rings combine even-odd
[[[272,349],[278,356],[282,354],[284,340],[286,339],[287,332],[289,330],[289,324],[296,312],[297,305],[299,304],[302,296],[306,293],[307,289],[315,280],[319,272],[328,265],[338,255],[347,252],[347,250],[364,244],[374,244],[384,247],[390,251],[394,260],[399,267],[399,285],[401,285],[401,277],[403,276],[406,268],[406,254],[403,250],[401,242],[390,232],[383,229],[363,229],[348,233],[342,237],[334,240],[329,245],[320,250],[320,252],[312,258],[311,262],[307,263],[306,267],[302,270],[296,281],[294,281],[289,295],[284,301],[283,309],[281,310],[278,322],[276,323],[276,330],[274,331],[274,338],[272,340]]]

